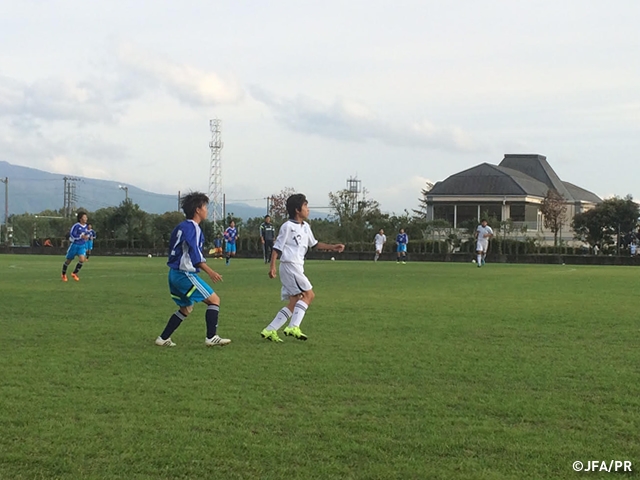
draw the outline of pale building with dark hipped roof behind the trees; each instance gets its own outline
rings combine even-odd
[[[458,228],[489,216],[544,234],[540,205],[549,190],[567,202],[565,238],[572,236],[569,225],[577,213],[602,202],[596,194],[560,180],[546,157],[506,154],[500,165],[482,163],[436,183],[426,197],[427,220],[446,220]]]

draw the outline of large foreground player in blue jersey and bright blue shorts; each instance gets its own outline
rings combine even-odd
[[[171,334],[193,310],[193,304],[203,302],[207,305],[205,321],[207,347],[224,346],[231,343],[228,338],[220,338],[218,330],[218,314],[220,313],[220,297],[207,285],[198,272],[202,270],[213,283],[222,281],[222,276],[209,268],[203,255],[204,235],[200,222],[207,218],[209,197],[204,193],[189,193],[182,199],[182,210],[186,220],[181,222],[171,233],[169,241],[169,292],[178,305],[178,310],[167,322],[162,334],[156,338],[156,345],[175,347]]]

